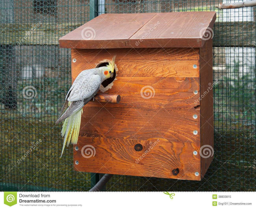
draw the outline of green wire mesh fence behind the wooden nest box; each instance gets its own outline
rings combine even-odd
[[[238,1],[222,1],[223,3]],[[255,7],[219,1],[0,0],[0,190],[88,191],[102,175],[60,157],[55,121],[71,86],[70,50],[58,39],[103,13],[216,11],[215,158],[202,181],[114,175],[106,191],[255,191]]]

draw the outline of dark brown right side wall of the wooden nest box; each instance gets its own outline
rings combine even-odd
[[[214,158],[214,111],[213,111],[212,39],[200,48],[200,156],[201,179]],[[204,152],[209,148],[210,152]],[[205,150],[206,151],[206,150]]]

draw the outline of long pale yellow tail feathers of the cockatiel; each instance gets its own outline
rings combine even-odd
[[[68,146],[70,141],[71,141],[71,144],[77,144],[82,113],[83,113],[83,109],[79,110],[78,112],[70,115],[68,118],[65,119],[62,126],[62,130],[61,130],[61,136],[62,137],[64,136],[64,142],[63,142],[63,147],[62,147],[62,152],[60,157],[62,157],[66,144]]]

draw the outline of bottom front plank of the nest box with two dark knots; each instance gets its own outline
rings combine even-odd
[[[141,151],[135,151],[136,144],[142,145]],[[200,156],[193,155],[199,146],[199,143],[170,143],[157,139],[79,137],[73,151],[74,168],[83,172],[200,180],[200,176],[195,176],[195,171],[200,169]],[[175,176],[172,170],[177,168],[179,173]]]

